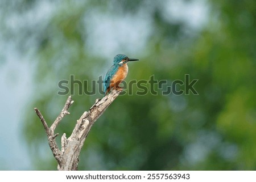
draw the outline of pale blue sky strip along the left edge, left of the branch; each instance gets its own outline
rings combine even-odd
[[[14,57],[8,57],[0,66],[0,170],[28,170],[31,166],[21,129],[24,108],[31,94],[32,71],[28,70],[32,66],[29,62],[13,61]]]

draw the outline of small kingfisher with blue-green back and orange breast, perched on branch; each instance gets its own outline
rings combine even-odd
[[[122,90],[122,87],[119,87],[119,84],[126,78],[128,74],[128,61],[138,61],[138,59],[129,58],[124,54],[117,54],[117,56],[114,57],[113,65],[106,73],[104,79],[105,95],[108,94],[111,88],[114,88],[115,90]]]

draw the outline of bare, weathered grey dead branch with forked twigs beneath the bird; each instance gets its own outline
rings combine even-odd
[[[96,103],[93,104],[89,111],[85,111],[79,120],[77,120],[71,136],[66,138],[66,134],[63,134],[61,137],[61,150],[56,143],[56,136],[59,134],[54,134],[54,132],[63,117],[69,115],[68,109],[74,102],[71,99],[71,96],[68,97],[59,116],[50,128],[48,127],[46,120],[44,120],[42,113],[37,108],[34,108],[36,115],[38,115],[44,126],[44,130],[46,130],[49,147],[52,150],[53,156],[57,160],[58,170],[77,170],[79,154],[90,128],[120,93],[121,91],[119,90],[113,90],[109,95],[105,96],[101,100],[97,99]]]

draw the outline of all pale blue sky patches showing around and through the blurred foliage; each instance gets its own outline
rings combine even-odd
[[[197,29],[202,27],[207,22],[208,7],[204,0],[196,0],[184,4],[181,1],[166,1],[166,8],[163,9],[164,15],[170,21],[178,19],[184,20],[189,27]],[[14,34],[19,35],[19,29],[26,26],[44,26],[51,18],[56,3],[49,1],[40,1],[37,6],[25,15],[19,16],[16,12],[9,12],[7,26],[14,31]],[[1,11],[1,8],[0,8]],[[113,58],[117,52],[118,39],[121,45],[127,46],[127,51],[131,52],[134,48],[127,45],[127,41],[139,41],[137,51],[142,50],[146,40],[150,37],[151,22],[146,19],[143,12],[138,13],[138,18],[127,16],[125,19],[118,17],[111,18],[110,15],[102,14],[101,12],[92,11],[90,21],[84,23],[88,26],[89,31],[93,32],[89,37],[88,43],[93,45],[90,50],[97,54],[98,50],[102,50],[102,56]],[[171,17],[171,18],[170,18]],[[170,18],[170,19],[169,19]],[[104,19],[104,23],[102,23]],[[135,31],[116,31],[113,27],[118,26],[121,29],[126,29],[127,25],[133,24]],[[144,31],[146,29],[146,31]],[[39,29],[40,31],[40,29]],[[144,32],[141,34],[141,32]],[[127,32],[129,32],[127,34]],[[0,31],[0,40],[1,37]],[[31,46],[34,39],[28,41]],[[21,37],[22,39],[22,37]],[[134,46],[134,44],[133,44]],[[29,157],[29,151],[26,140],[22,133],[22,118],[24,111],[27,111],[28,103],[33,92],[33,75],[36,60],[35,50],[28,54],[22,54],[16,48],[15,41],[0,41],[0,95],[2,96],[2,104],[0,105],[0,170],[33,170],[33,165]],[[33,52],[34,51],[34,52]],[[34,112],[31,108],[31,112]]]

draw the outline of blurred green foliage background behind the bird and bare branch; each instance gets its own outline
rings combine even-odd
[[[23,12],[36,1],[20,3],[16,9]],[[84,22],[90,13],[99,12],[123,21],[142,12],[150,19],[151,33],[143,50],[119,46],[117,53],[141,60],[129,65],[127,81],[148,80],[154,74],[171,83],[184,81],[189,74],[199,79],[195,84],[199,95],[164,96],[158,90],[156,96],[138,96],[135,88],[133,95],[119,96],[92,127],[79,170],[256,170],[256,1],[207,1],[209,20],[200,30],[182,20],[168,20],[162,12],[166,1],[57,5],[43,31],[23,32],[24,42],[31,35],[37,40],[34,95],[25,108],[23,128],[36,170],[56,170],[57,164],[33,108],[38,107],[50,124],[67,99],[56,94],[61,79],[75,75],[92,81],[112,64],[102,50],[93,54],[89,51],[93,45],[87,44],[90,31]],[[129,22],[126,26],[137,31]],[[76,120],[101,97],[79,95],[76,87],[71,115],[56,132],[69,136]]]

